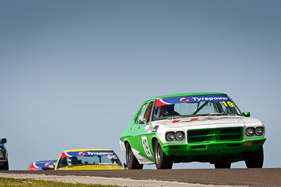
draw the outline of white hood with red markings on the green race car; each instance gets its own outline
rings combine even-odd
[[[244,116],[198,116],[190,118],[174,118],[171,120],[159,120],[152,122],[152,125],[164,125],[166,127],[192,127],[198,125],[204,126],[244,126],[246,124],[261,124],[260,120],[255,118],[246,118]]]

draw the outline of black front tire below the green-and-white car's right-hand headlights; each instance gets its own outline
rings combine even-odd
[[[245,153],[245,164],[247,168],[263,167],[263,146],[257,151]]]

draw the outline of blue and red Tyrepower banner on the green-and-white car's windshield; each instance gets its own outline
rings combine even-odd
[[[196,96],[181,96],[181,97],[171,97],[164,99],[157,99],[155,106],[163,106],[168,104],[177,103],[194,103],[194,102],[230,102],[231,100],[227,95],[196,95]]]

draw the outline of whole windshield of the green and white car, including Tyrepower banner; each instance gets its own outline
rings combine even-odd
[[[241,116],[227,95],[200,95],[157,99],[152,120],[188,116]]]

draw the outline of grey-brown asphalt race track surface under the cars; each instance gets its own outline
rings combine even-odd
[[[80,171],[0,171],[8,174],[46,174],[52,176],[101,176],[129,179],[157,179],[230,186],[281,186],[281,168],[262,169],[136,169]]]

